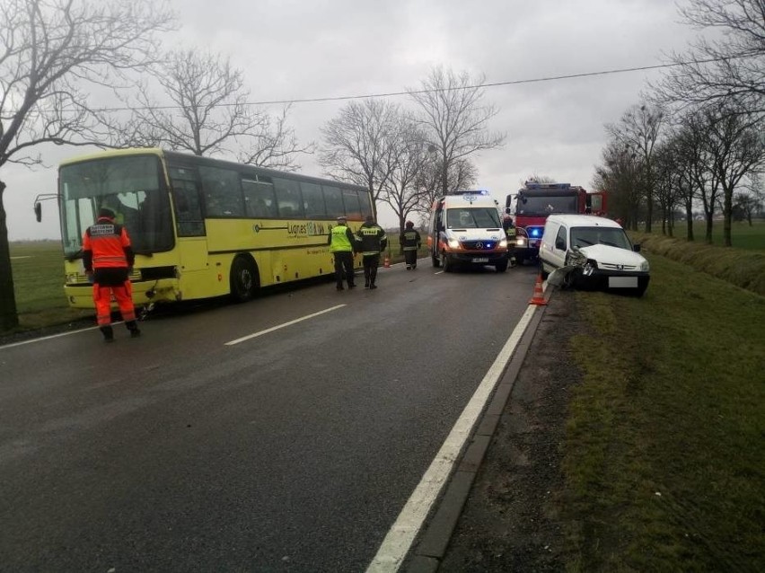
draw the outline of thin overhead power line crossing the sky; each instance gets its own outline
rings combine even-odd
[[[712,64],[715,62],[723,62],[731,59],[738,59],[742,57],[751,56],[733,56],[733,57],[713,57],[709,59],[699,59],[690,62],[674,62],[672,64],[657,64],[655,66],[638,66],[638,67],[622,67],[612,70],[602,70],[599,72],[585,72],[582,74],[568,74],[568,75],[550,75],[548,77],[537,77],[523,80],[509,80],[507,82],[495,82],[490,84],[476,84],[476,85],[463,85],[457,87],[446,87],[441,89],[429,89],[429,90],[413,90],[411,92],[388,92],[388,93],[366,93],[362,95],[338,95],[330,97],[319,98],[296,98],[292,100],[266,100],[266,101],[247,101],[244,105],[275,105],[275,104],[293,104],[293,103],[321,103],[324,101],[349,101],[349,100],[368,100],[373,98],[389,98],[399,97],[401,95],[410,95],[412,93],[437,93],[437,92],[452,92],[455,90],[474,90],[488,87],[499,87],[502,85],[519,85],[519,84],[539,84],[541,82],[555,82],[558,80],[570,80],[580,77],[594,77],[596,75],[613,75],[613,74],[626,74],[629,72],[643,72],[646,70],[655,70],[676,66],[690,66],[697,64]],[[219,107],[231,107],[237,105],[235,103],[221,103]],[[129,111],[129,110],[175,110],[180,108],[179,105],[162,105],[162,106],[136,106],[132,108],[100,108],[99,111]]]

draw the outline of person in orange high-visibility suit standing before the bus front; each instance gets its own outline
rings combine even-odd
[[[111,328],[112,293],[130,336],[136,338],[141,334],[136,323],[129,277],[129,269],[135,259],[128,231],[114,222],[114,211],[101,208],[95,225],[89,226],[83,237],[83,264],[88,278],[92,278],[96,320],[107,342],[114,340]]]

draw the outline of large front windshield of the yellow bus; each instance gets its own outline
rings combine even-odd
[[[168,251],[173,246],[170,200],[156,155],[127,155],[62,165],[61,236],[67,257],[81,252],[85,229],[101,207],[125,225],[133,250]]]

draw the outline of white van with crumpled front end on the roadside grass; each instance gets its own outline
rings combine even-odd
[[[648,261],[616,221],[601,216],[551,215],[540,243],[543,278],[585,289],[629,289],[642,296],[650,281]]]

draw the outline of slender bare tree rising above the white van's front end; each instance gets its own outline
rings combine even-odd
[[[611,137],[619,139],[628,150],[637,154],[645,170],[646,233],[651,232],[654,216],[654,149],[664,123],[664,110],[659,106],[644,103],[627,110],[621,117],[619,124],[606,126],[606,131],[611,134]]]

